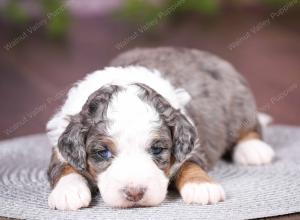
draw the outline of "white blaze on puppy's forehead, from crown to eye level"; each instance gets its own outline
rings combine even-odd
[[[144,148],[161,125],[157,111],[138,96],[137,86],[127,86],[113,96],[108,109],[108,134],[118,150]]]

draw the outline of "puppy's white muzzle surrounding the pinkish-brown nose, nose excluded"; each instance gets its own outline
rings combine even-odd
[[[168,178],[149,158],[116,158],[111,166],[98,175],[98,188],[104,202],[118,208],[157,206],[166,197]],[[143,188],[143,196],[128,199],[124,189]]]

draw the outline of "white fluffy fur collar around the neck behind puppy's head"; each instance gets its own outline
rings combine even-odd
[[[142,66],[107,67],[104,70],[88,74],[68,92],[65,104],[47,123],[47,134],[51,144],[57,145],[58,138],[69,123],[68,117],[79,113],[88,97],[97,89],[104,85],[128,86],[136,82],[153,88],[176,109],[183,109],[190,100],[189,94],[184,89],[174,89],[157,70],[150,70]]]

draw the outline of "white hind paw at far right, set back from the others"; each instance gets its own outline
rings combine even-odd
[[[233,160],[243,165],[262,165],[271,163],[275,153],[265,142],[253,139],[236,145]]]

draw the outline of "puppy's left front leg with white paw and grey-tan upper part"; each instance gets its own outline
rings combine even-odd
[[[90,204],[91,191],[87,180],[73,167],[60,160],[55,150],[52,153],[48,178],[53,187],[48,198],[50,208],[77,210]]]

